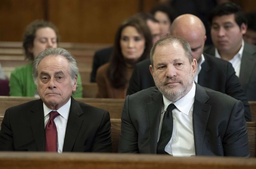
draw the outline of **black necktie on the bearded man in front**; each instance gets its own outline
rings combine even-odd
[[[173,117],[172,110],[175,108],[174,104],[170,104],[163,117],[162,129],[160,138],[158,140],[157,153],[158,154],[166,154],[165,146],[170,141],[172,136],[172,128],[173,128]]]

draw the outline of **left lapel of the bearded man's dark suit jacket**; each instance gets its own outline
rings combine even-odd
[[[152,96],[153,101],[147,104],[150,125],[150,149],[156,153],[158,130],[161,116],[162,94],[158,91]]]

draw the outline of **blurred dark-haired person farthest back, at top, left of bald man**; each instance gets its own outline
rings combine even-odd
[[[151,10],[151,13],[160,24],[160,36],[164,37],[166,34],[169,33],[171,23],[176,17],[175,13],[169,5],[165,4],[154,7]]]

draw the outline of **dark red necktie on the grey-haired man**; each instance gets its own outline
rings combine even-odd
[[[48,152],[57,152],[58,133],[53,120],[58,115],[57,111],[51,111],[49,121],[46,124],[46,151]]]

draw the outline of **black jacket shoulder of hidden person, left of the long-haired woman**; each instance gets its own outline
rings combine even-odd
[[[97,69],[101,65],[107,63],[110,60],[112,51],[113,51],[113,47],[108,47],[108,48],[100,49],[95,52],[93,63],[92,63],[91,82],[96,82]]]

